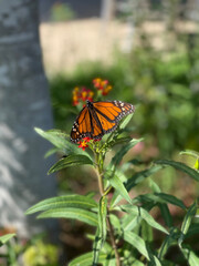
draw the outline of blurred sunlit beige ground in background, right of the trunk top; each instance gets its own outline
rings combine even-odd
[[[166,24],[146,22],[144,30],[151,34],[157,49],[169,45],[168,35],[164,35]],[[192,23],[178,23],[178,31],[195,31]],[[75,20],[69,22],[42,23],[40,25],[43,62],[48,74],[72,71],[82,61],[103,61],[111,63],[114,51],[128,52],[136,30],[118,21],[103,22],[100,19]],[[172,38],[169,38],[170,40]]]

